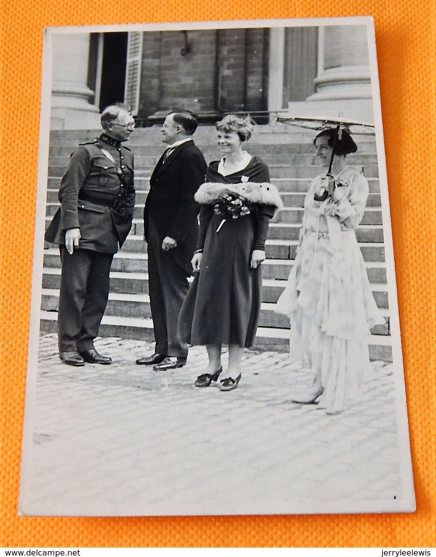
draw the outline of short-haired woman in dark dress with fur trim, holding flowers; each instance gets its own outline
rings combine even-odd
[[[205,345],[209,365],[196,387],[209,387],[222,372],[221,346],[229,345],[229,366],[221,390],[241,379],[244,348],[252,346],[259,320],[265,240],[270,218],[282,206],[269,183],[267,165],[242,150],[250,138],[249,118],[228,115],[216,124],[223,157],[210,163],[206,183],[195,195],[201,204],[194,282],[182,306],[179,335]]]

